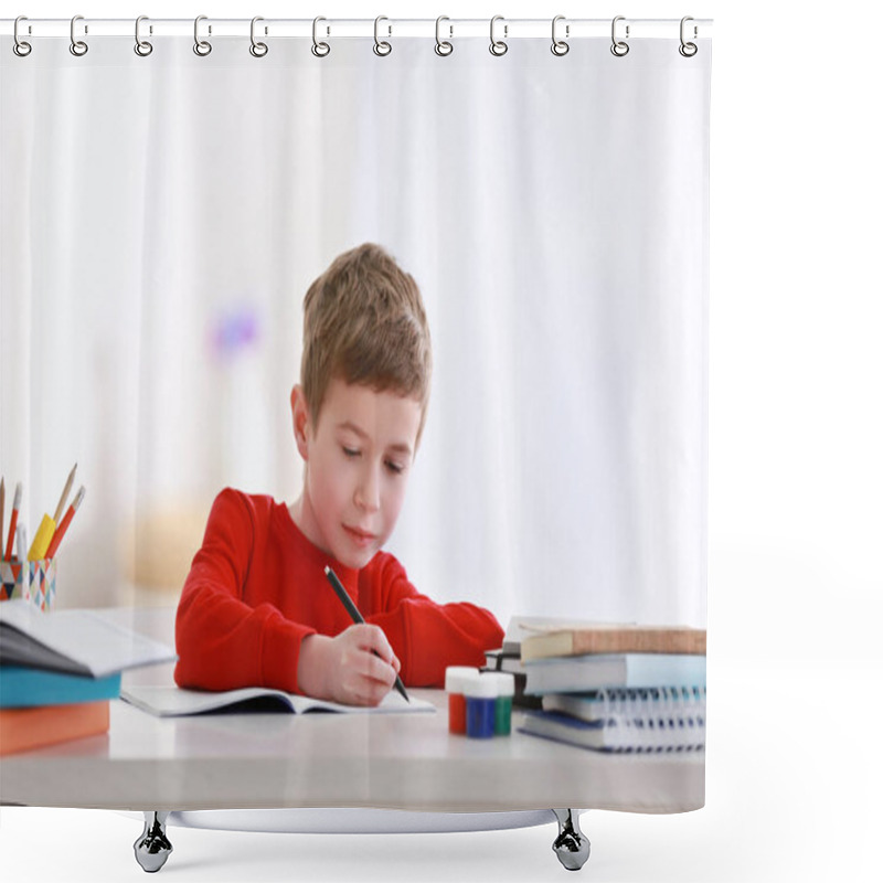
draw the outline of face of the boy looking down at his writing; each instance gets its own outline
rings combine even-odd
[[[348,567],[363,567],[386,542],[405,500],[421,404],[332,380],[318,425],[300,386],[291,391],[295,438],[306,462],[295,523]]]

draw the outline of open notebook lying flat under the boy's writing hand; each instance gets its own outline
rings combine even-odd
[[[188,714],[205,714],[226,711],[237,706],[237,711],[248,711],[249,703],[262,711],[268,705],[279,711],[294,714],[304,712],[332,711],[344,714],[391,714],[402,712],[434,712],[435,705],[422,699],[411,696],[406,702],[395,691],[387,693],[380,705],[341,705],[310,696],[298,696],[283,690],[269,690],[263,687],[244,687],[240,690],[208,692],[202,690],[183,690],[180,687],[128,687],[120,692],[120,699],[132,705],[155,714],[158,717],[182,717]]]

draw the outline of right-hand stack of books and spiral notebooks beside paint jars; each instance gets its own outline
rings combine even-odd
[[[528,627],[520,641],[530,735],[604,752],[705,746],[705,630],[592,624]]]

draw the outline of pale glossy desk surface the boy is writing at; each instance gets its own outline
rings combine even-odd
[[[173,609],[114,610],[172,643]],[[172,666],[124,674],[171,683]],[[383,807],[477,812],[547,807],[679,812],[704,804],[704,755],[605,755],[514,732],[448,734],[435,714],[247,713],[158,719],[114,701],[102,736],[0,760],[0,800],[45,807]]]

